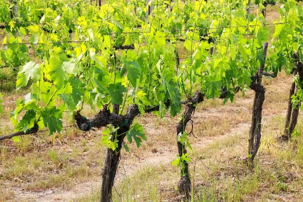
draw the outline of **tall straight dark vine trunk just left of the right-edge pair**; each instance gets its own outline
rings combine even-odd
[[[265,99],[265,87],[261,84],[266,61],[268,42],[263,44],[264,63],[252,77],[249,88],[255,91],[254,105],[252,106],[251,126],[248,137],[248,160],[254,161],[261,142],[262,106]]]

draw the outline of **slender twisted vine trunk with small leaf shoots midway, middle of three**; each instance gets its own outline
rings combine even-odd
[[[191,117],[194,114],[196,105],[198,103],[203,102],[203,94],[200,91],[197,91],[194,96],[189,99],[189,102],[186,104],[182,119],[179,121],[177,125],[177,137],[182,135],[185,132],[186,124],[191,120]],[[187,153],[185,144],[182,144],[180,141],[177,140],[178,145],[178,154],[179,157],[182,157]],[[182,168],[181,168],[181,179],[178,184],[178,190],[181,195],[185,196],[185,200],[188,200],[190,197],[191,192],[191,182],[189,176],[189,169],[188,169],[188,162],[182,161]]]

